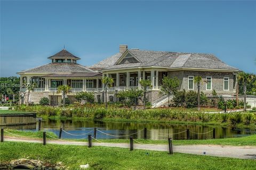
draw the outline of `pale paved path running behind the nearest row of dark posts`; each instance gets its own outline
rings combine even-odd
[[[17,142],[33,142],[42,143],[42,140],[38,139],[22,139],[5,137],[4,141],[17,141]],[[135,142],[135,141],[134,141]],[[79,145],[87,146],[87,142],[75,142],[75,141],[65,141],[65,140],[47,140],[47,143],[58,144],[58,145]],[[129,143],[95,143],[93,146],[105,146],[105,147],[118,147],[118,148],[130,148]],[[155,151],[168,151],[167,145],[153,145],[153,144],[134,144],[134,149],[144,149],[144,150],[155,150]],[[230,158],[240,158],[240,159],[255,159],[256,160],[256,147],[249,146],[220,146],[220,145],[183,145],[183,146],[173,146],[174,152],[180,152],[185,154],[195,154],[195,155],[206,155],[218,156],[218,157],[230,157]]]

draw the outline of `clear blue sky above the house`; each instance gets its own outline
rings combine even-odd
[[[1,1],[1,77],[66,49],[92,65],[129,48],[198,52],[256,73],[255,1]]]

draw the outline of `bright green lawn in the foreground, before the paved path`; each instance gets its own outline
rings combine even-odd
[[[255,160],[220,158],[190,154],[124,148],[46,145],[40,143],[0,143],[0,162],[13,159],[40,159],[47,163],[63,162],[70,169],[89,164],[89,169],[255,169]]]

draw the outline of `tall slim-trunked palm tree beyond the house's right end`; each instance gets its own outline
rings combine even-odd
[[[238,74],[237,79],[243,83],[243,94],[244,94],[244,111],[246,111],[246,90],[247,90],[247,83],[250,83],[255,75],[241,72]]]

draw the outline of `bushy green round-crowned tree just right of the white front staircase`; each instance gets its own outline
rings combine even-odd
[[[180,81],[177,77],[169,78],[164,77],[160,93],[162,95],[168,95],[168,106],[170,104],[170,95],[175,95],[178,90]]]

